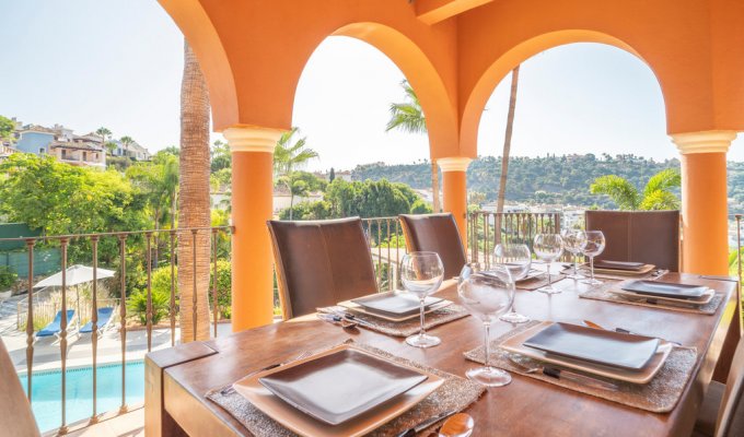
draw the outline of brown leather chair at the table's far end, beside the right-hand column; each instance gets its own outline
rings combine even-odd
[[[602,231],[598,260],[638,261],[679,271],[679,211],[586,211],[586,229]]]

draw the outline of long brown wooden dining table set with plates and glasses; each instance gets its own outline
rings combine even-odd
[[[722,293],[723,303],[714,315],[698,315],[592,300],[579,297],[586,285],[568,279],[556,283],[562,293],[546,295],[518,290],[514,302],[519,312],[534,320],[581,323],[588,319],[602,327],[621,327],[697,347],[693,376],[672,412],[651,413],[514,374],[510,385],[488,389],[465,410],[475,420],[473,435],[689,436],[717,364],[722,373],[721,367],[725,368],[733,353],[729,344],[732,341],[735,344],[741,334],[737,283],[726,277],[684,273],[670,273],[663,280],[706,285]],[[456,303],[455,282],[445,281],[437,295]],[[512,328],[510,323],[497,322],[491,335],[496,338]],[[430,333],[440,336],[442,343],[421,350],[407,345],[402,338],[364,328],[344,330],[310,315],[153,352],[146,359],[146,433],[149,437],[251,436],[206,393],[303,351],[323,350],[350,338],[458,376],[477,366],[466,361],[463,353],[483,344],[483,323],[478,319],[458,319],[433,328]]]

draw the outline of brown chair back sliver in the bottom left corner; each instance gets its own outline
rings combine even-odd
[[[0,435],[39,436],[34,413],[23,392],[5,344],[0,340]]]

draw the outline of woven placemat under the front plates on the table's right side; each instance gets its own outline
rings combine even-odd
[[[542,373],[525,374],[519,367],[514,366],[511,361],[509,361],[509,352],[500,349],[499,345],[512,335],[530,329],[537,323],[539,323],[539,321],[524,323],[504,333],[503,335],[500,335],[498,339],[491,340],[489,354],[491,366],[524,375],[530,378],[540,379],[545,382],[554,383],[556,386],[579,391],[581,393],[621,403],[624,405],[633,406],[653,413],[666,413],[672,411],[679,401],[679,398],[685,390],[685,386],[687,385],[687,381],[689,380],[697,362],[697,349],[674,346],[666,358],[664,366],[647,385],[635,385],[630,382],[616,381],[592,375],[592,377],[597,379],[614,382],[618,386],[618,391],[597,389],[566,379],[556,379],[543,375]],[[466,352],[465,357],[476,363],[484,363],[484,347],[480,346]],[[521,356],[520,363],[530,366],[531,364],[537,365],[540,362]],[[561,366],[556,367],[560,368]],[[581,374],[579,370],[572,369],[571,371]]]

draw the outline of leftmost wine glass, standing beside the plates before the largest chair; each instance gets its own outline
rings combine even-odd
[[[423,302],[437,292],[444,279],[442,260],[435,252],[410,252],[400,260],[400,282],[409,292],[418,296],[421,303],[421,329],[418,334],[410,335],[406,343],[415,347],[432,347],[442,341],[438,336],[428,335],[423,329]]]

